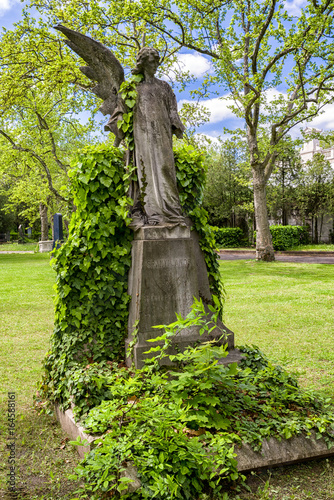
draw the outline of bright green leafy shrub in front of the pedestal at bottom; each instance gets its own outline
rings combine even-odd
[[[217,315],[213,307],[207,313],[196,301],[187,318],[178,317],[158,340],[167,340],[168,346],[168,339],[190,323],[209,333],[215,326],[210,318]],[[218,493],[222,478],[239,477],[231,446],[239,438],[216,432],[228,422],[215,408],[215,389],[229,385],[236,373],[235,365],[218,365],[226,354],[225,346],[208,342],[171,356],[182,371],[168,374],[159,368],[164,349],[142,370],[115,369],[111,400],[91,410],[84,422],[90,432],[104,433],[76,469],[89,498],[120,498],[122,492],[125,499],[193,499],[203,491]],[[127,490],[129,465],[136,467],[141,482],[136,491]]]

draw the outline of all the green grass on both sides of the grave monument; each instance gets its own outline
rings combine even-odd
[[[256,344],[298,373],[301,384],[334,397],[334,266],[222,261],[225,322],[237,344]],[[54,274],[47,254],[0,255],[0,498],[6,498],[7,392],[17,396],[17,465],[22,497],[68,500],[76,452],[32,396],[53,328]],[[4,438],[4,439],[2,439]],[[250,475],[243,500],[334,499],[334,459]],[[9,498],[9,497],[7,497]],[[197,499],[194,499],[197,500]],[[226,497],[224,500],[227,500]]]

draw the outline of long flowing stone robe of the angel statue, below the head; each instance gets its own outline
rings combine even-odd
[[[137,92],[133,124],[135,163],[139,189],[145,192],[146,223],[184,224],[172,140],[173,133],[182,137],[184,131],[176,97],[167,82],[155,77],[139,83]]]

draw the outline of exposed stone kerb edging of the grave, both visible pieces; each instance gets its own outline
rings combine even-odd
[[[80,458],[84,458],[85,453],[91,450],[97,437],[87,434],[83,427],[75,423],[72,410],[63,412],[56,406],[55,413],[62,429],[71,440],[75,441],[80,436],[81,439],[87,439],[89,442],[87,446],[77,447]],[[301,434],[281,441],[276,438],[265,439],[260,452],[254,451],[249,444],[243,444],[241,447],[235,448],[235,451],[237,453],[238,471],[248,472],[327,458],[334,455],[334,446],[328,449],[325,440],[323,438],[316,439],[315,432],[312,431],[309,438]]]

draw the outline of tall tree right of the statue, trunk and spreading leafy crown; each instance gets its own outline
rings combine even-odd
[[[171,64],[185,48],[211,59],[197,94],[218,84],[234,99],[247,131],[253,175],[257,258],[274,260],[266,185],[280,144],[292,127],[316,116],[333,99],[331,0],[306,0],[298,18],[283,0],[34,0],[50,22],[85,30],[133,61],[142,44],[154,42]],[[71,66],[73,68],[73,65]],[[282,92],[278,92],[281,89]],[[263,146],[261,127],[269,130]]]

